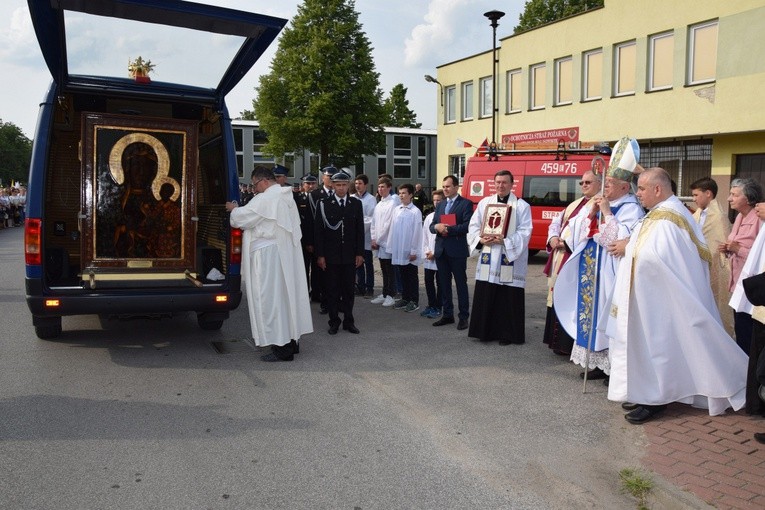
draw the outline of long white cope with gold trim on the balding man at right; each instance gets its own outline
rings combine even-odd
[[[610,400],[682,402],[712,416],[744,405],[747,357],[720,322],[710,260],[701,227],[675,196],[637,226],[606,329]]]

